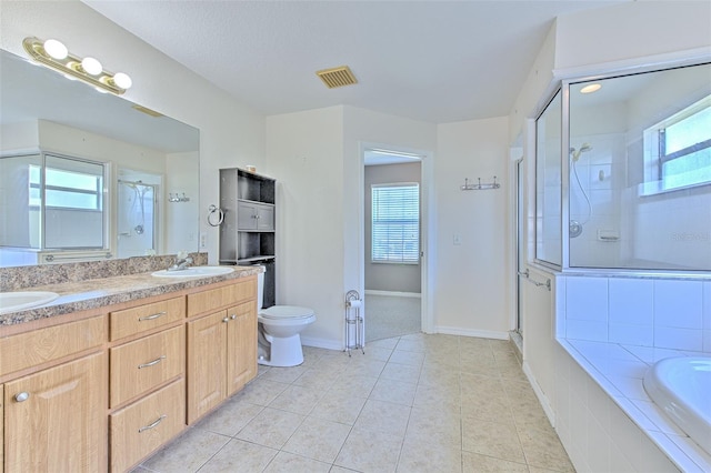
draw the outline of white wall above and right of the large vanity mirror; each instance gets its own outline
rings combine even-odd
[[[217,264],[219,233],[204,215],[219,202],[218,170],[263,165],[263,117],[79,1],[3,1],[0,12],[0,48],[27,57],[26,37],[58,38],[72,53],[131,76],[126,99],[200,130],[200,231]]]

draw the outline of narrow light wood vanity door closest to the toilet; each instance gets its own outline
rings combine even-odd
[[[241,390],[257,375],[257,303],[228,310],[227,395]]]

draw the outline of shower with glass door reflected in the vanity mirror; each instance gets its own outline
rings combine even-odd
[[[154,253],[158,185],[143,179],[119,179],[118,184],[119,258]]]

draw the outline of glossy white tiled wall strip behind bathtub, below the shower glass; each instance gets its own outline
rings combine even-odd
[[[709,280],[565,275],[557,293],[559,338],[711,353]]]

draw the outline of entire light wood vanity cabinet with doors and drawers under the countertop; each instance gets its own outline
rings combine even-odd
[[[130,470],[257,375],[257,276],[176,294],[0,331],[0,473]]]

